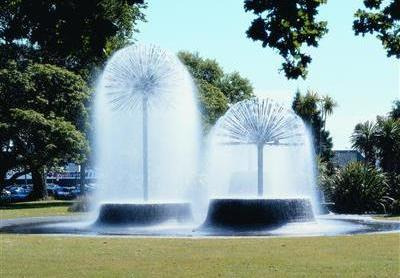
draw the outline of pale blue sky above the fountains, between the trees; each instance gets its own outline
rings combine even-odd
[[[259,96],[289,104],[297,88],[329,94],[339,104],[327,122],[334,148],[349,149],[355,124],[386,114],[400,98],[400,62],[387,58],[374,36],[353,34],[353,14],[361,5],[360,0],[330,0],[320,8],[329,33],[310,50],[313,61],[306,80],[288,81],[278,72],[280,56],[246,37],[254,16],[244,12],[243,1],[149,1],[147,22],[139,25],[136,38],[216,59],[225,71],[247,77]]]

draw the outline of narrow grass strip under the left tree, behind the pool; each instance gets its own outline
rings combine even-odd
[[[36,201],[0,205],[0,219],[68,215],[72,201]]]

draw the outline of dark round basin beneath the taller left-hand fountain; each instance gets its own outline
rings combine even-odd
[[[166,221],[192,220],[189,203],[106,203],[100,207],[96,224],[155,225]]]

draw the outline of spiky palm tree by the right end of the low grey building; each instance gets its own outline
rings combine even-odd
[[[366,162],[372,166],[376,163],[376,132],[376,124],[366,121],[357,124],[351,135],[352,147],[361,152]]]

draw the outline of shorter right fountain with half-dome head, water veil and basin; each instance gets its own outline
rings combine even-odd
[[[215,187],[204,226],[254,229],[314,220],[313,154],[292,110],[271,99],[241,101],[217,122],[210,141],[207,182]]]

